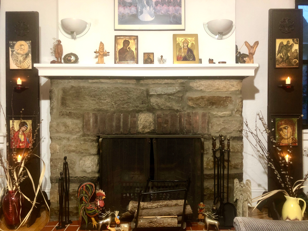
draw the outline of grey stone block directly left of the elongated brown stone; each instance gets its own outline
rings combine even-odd
[[[154,95],[150,99],[151,104],[155,109],[172,109],[172,110],[181,109],[181,100],[182,97],[180,95],[169,95],[169,96]]]

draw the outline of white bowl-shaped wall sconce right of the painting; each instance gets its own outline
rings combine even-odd
[[[226,39],[235,30],[235,24],[229,19],[214,19],[203,23],[206,33],[214,39]]]

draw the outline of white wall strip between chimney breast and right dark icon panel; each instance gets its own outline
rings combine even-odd
[[[268,44],[268,10],[274,8],[294,8],[294,0],[236,0],[236,44],[238,48],[247,41],[259,46],[253,57],[259,68],[254,77],[243,80],[243,118],[250,126],[255,124],[256,113],[261,111],[267,118],[267,44]],[[247,54],[247,48],[241,49]],[[251,138],[252,139],[252,138]],[[244,138],[243,178],[251,180],[253,197],[267,190],[267,165],[261,164],[257,154]]]

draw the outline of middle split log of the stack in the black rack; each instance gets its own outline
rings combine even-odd
[[[152,217],[152,216],[178,216],[183,214],[183,206],[174,206],[174,207],[161,207],[154,209],[142,209],[139,210],[138,217]],[[193,214],[190,205],[186,206],[185,214]],[[135,213],[135,217],[137,215],[137,211]]]

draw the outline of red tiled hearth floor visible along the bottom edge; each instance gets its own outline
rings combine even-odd
[[[41,231],[56,231],[57,229],[55,228],[58,225],[58,221],[49,221],[48,224],[41,230]],[[115,225],[111,225],[111,227],[115,227]],[[65,229],[59,229],[61,231],[79,231],[79,225],[78,221],[73,221],[72,224],[67,225]],[[108,230],[108,229],[104,229]],[[198,228],[197,222],[191,222],[187,224],[186,230],[206,230],[206,229],[200,229]],[[214,227],[209,228],[209,230],[215,230]],[[230,231],[234,230],[232,229],[220,229],[220,231]]]

